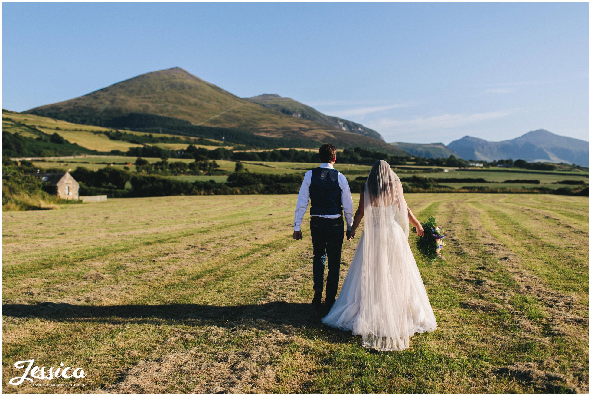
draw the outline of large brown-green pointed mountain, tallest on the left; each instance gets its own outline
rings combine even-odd
[[[149,118],[154,127],[160,126],[158,120],[166,125],[173,125],[176,120],[202,127],[233,128],[234,133],[246,131],[246,134],[294,142],[331,142],[337,147],[359,146],[405,155],[382,140],[291,117],[239,98],[180,67],[139,75],[79,98],[36,107],[25,113],[105,127],[137,127],[137,124],[125,123],[131,123],[129,118],[137,120],[138,117]]]

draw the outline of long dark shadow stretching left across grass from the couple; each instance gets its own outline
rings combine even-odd
[[[89,321],[119,323],[184,323],[195,326],[235,327],[258,329],[274,327],[285,333],[295,329],[324,328],[333,336],[350,336],[350,331],[339,331],[323,326],[320,314],[310,304],[272,301],[264,304],[215,305],[76,305],[41,302],[39,304],[3,304],[2,315],[17,318],[41,318],[54,321]],[[334,331],[332,331],[334,330]]]

